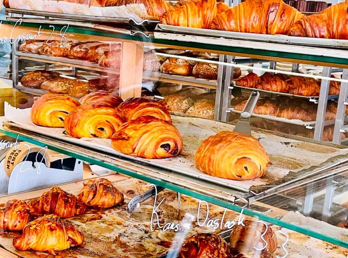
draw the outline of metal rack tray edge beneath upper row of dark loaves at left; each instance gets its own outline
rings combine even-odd
[[[25,53],[20,51],[16,51],[14,55],[18,56],[20,59],[31,60],[36,62],[57,64],[57,65],[70,65],[74,67],[95,70],[95,71],[102,71],[102,72],[113,73],[113,74],[120,73],[120,70],[117,68],[102,67],[96,63],[92,63],[86,60],[70,59],[65,57],[44,56],[44,55]]]

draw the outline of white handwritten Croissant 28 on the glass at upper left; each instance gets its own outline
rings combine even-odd
[[[37,34],[32,34],[32,33],[26,33],[26,34],[19,34],[14,40],[12,40],[14,38],[13,34],[14,34],[14,31],[15,29],[17,28],[17,26],[21,25],[23,22],[23,19],[18,19],[16,21],[16,23],[14,24],[13,28],[12,28],[12,31],[11,31],[11,34],[10,34],[10,37],[9,37],[9,43],[10,44],[13,44],[15,43],[16,41],[25,41],[25,40],[33,40],[33,39],[36,39],[37,36],[41,36],[42,35],[42,25],[40,25],[38,31],[37,31]],[[0,21],[0,26],[2,25],[2,21]],[[66,33],[69,29],[69,24],[63,26],[61,28],[61,30],[59,31],[59,35],[61,36],[61,40],[60,40],[60,47],[61,48],[64,48],[67,43],[68,43],[68,40],[66,38]],[[51,38],[54,34],[54,32],[56,31],[56,28],[54,25],[50,24],[48,26],[50,28],[51,31],[51,34],[50,36],[48,37],[48,39],[46,40],[46,44],[47,45],[51,45],[54,41],[51,41]],[[51,42],[50,42],[51,41]],[[2,37],[0,38],[0,44],[4,44],[7,42],[7,38],[5,37]]]

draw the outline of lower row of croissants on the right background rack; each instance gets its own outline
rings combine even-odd
[[[243,111],[247,101],[244,100],[235,105],[235,110]],[[336,119],[337,102],[329,101],[327,105],[326,120]],[[274,98],[260,98],[253,111],[254,114],[281,117],[286,119],[298,119],[304,122],[315,121],[317,105],[303,99],[295,99],[284,96]],[[346,111],[348,114],[348,110]]]

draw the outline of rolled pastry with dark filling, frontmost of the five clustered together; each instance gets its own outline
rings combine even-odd
[[[149,116],[124,123],[111,140],[115,150],[146,159],[174,157],[182,149],[179,131],[172,124]]]

